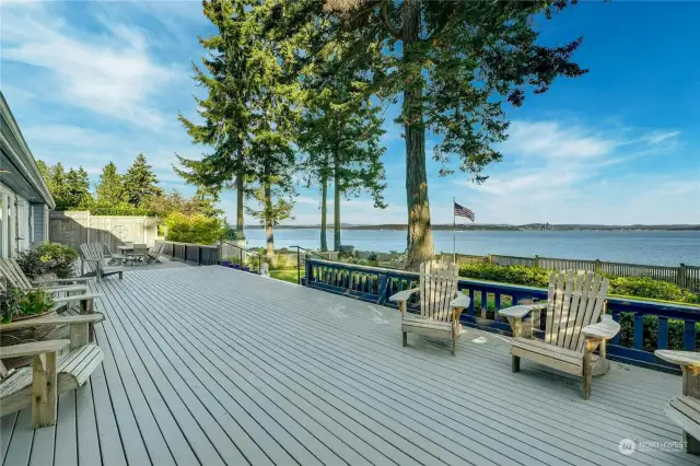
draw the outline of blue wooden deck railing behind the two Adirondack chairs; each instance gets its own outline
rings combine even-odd
[[[306,259],[305,273],[304,282],[307,287],[389,307],[395,307],[388,301],[392,294],[417,287],[419,280],[415,272],[312,258]],[[465,325],[506,335],[511,334],[511,326],[505,317],[499,315],[499,310],[520,300],[547,300],[547,290],[534,287],[460,279],[458,288],[471,299],[469,308],[462,315]],[[418,302],[409,303],[409,308],[411,307],[417,311]],[[607,345],[607,356],[611,360],[680,373],[678,366],[656,358],[653,349],[697,349],[696,323],[700,321],[699,306],[608,296],[606,312],[622,324],[622,331]],[[645,323],[644,317],[648,316],[652,318],[648,318],[649,322]],[[535,330],[540,338],[544,337],[545,322],[546,311],[541,313],[540,325]],[[675,348],[669,348],[670,327],[682,334],[682,337],[674,337]],[[650,343],[645,343],[645,340],[654,339],[656,345],[649,348]],[[682,348],[678,348],[679,339],[682,339]]]

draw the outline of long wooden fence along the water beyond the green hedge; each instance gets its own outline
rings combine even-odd
[[[452,254],[441,253],[440,258],[452,260]],[[539,267],[548,270],[592,270],[596,272],[609,273],[616,277],[649,277],[658,281],[666,281],[700,291],[700,267],[687,266],[678,267],[652,266],[644,264],[609,263],[605,260],[564,259],[558,257],[522,257],[502,256],[489,254],[487,256],[471,256],[465,254],[456,255],[457,264],[494,264],[497,266],[525,266]]]

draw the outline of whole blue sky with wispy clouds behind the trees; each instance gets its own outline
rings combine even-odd
[[[125,171],[144,152],[165,188],[191,193],[174,153],[197,156],[176,120],[195,116],[190,62],[211,32],[199,1],[2,2],[0,83],[37,159],[82,165],[94,183],[107,162]],[[591,2],[537,22],[541,42],[583,36],[591,72],[560,79],[508,108],[504,160],[476,186],[438,177],[429,161],[434,223],[452,198],[480,223],[700,223],[700,2]],[[348,223],[406,221],[405,152],[397,109],[386,112],[388,208],[343,201]],[[428,138],[428,151],[439,139]],[[318,194],[299,188],[295,220],[318,223]],[[233,193],[221,207],[235,215]],[[248,219],[248,221],[252,221]]]

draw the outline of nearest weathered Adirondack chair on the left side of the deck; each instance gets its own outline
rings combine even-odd
[[[54,426],[58,395],[82,386],[102,363],[100,347],[90,342],[90,325],[100,313],[36,318],[0,325],[0,333],[39,325],[69,326],[70,339],[0,347],[0,359],[33,357],[32,366],[7,371],[0,362],[0,416],[32,407],[32,429]],[[61,350],[62,353],[59,354]]]

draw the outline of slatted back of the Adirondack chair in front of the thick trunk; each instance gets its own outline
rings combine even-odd
[[[430,260],[420,265],[420,313],[423,318],[450,322],[450,302],[457,293],[457,268]]]

